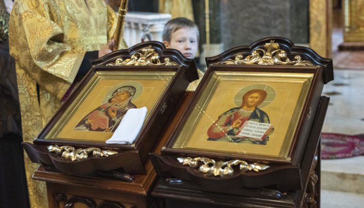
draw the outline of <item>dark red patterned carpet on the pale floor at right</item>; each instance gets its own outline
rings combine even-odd
[[[335,159],[364,155],[364,135],[321,134],[321,158]]]

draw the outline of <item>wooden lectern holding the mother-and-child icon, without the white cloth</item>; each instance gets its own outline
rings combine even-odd
[[[33,178],[47,182],[50,207],[155,205],[148,195],[156,177],[148,153],[198,78],[195,62],[148,41],[92,63],[33,144],[23,144],[40,164]],[[147,114],[135,139],[106,143],[125,112],[142,107]]]

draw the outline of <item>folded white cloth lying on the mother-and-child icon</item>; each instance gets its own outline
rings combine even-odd
[[[106,140],[107,144],[132,144],[138,137],[147,115],[147,107],[130,108],[126,111],[113,136]]]

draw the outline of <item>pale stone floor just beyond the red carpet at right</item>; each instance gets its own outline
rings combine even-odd
[[[323,95],[330,97],[323,132],[349,135],[364,133],[362,89],[364,70],[334,69],[334,80],[323,91]]]

